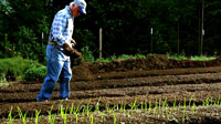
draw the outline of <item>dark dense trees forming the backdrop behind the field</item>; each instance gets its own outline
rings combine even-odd
[[[137,53],[220,54],[221,1],[203,1],[86,0],[87,14],[75,19],[73,38],[78,50],[87,46],[95,58],[98,56],[99,28],[103,29],[105,56]],[[1,0],[0,58],[19,55],[44,62],[53,17],[70,2]]]

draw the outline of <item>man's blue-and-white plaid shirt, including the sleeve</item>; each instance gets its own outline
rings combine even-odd
[[[70,43],[74,30],[74,18],[72,12],[66,6],[63,10],[60,10],[53,20],[49,41],[55,42],[59,45],[63,45],[65,42]]]

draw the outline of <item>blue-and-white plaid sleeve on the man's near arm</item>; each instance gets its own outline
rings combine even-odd
[[[52,23],[52,37],[59,45],[63,45],[65,42],[65,38],[63,37],[64,29],[66,27],[66,18],[65,16],[55,16],[54,21]]]

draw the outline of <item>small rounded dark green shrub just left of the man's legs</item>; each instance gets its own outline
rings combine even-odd
[[[24,75],[23,80],[25,81],[33,81],[33,80],[43,80],[46,76],[46,66],[40,66],[40,68],[31,68],[29,69]]]

